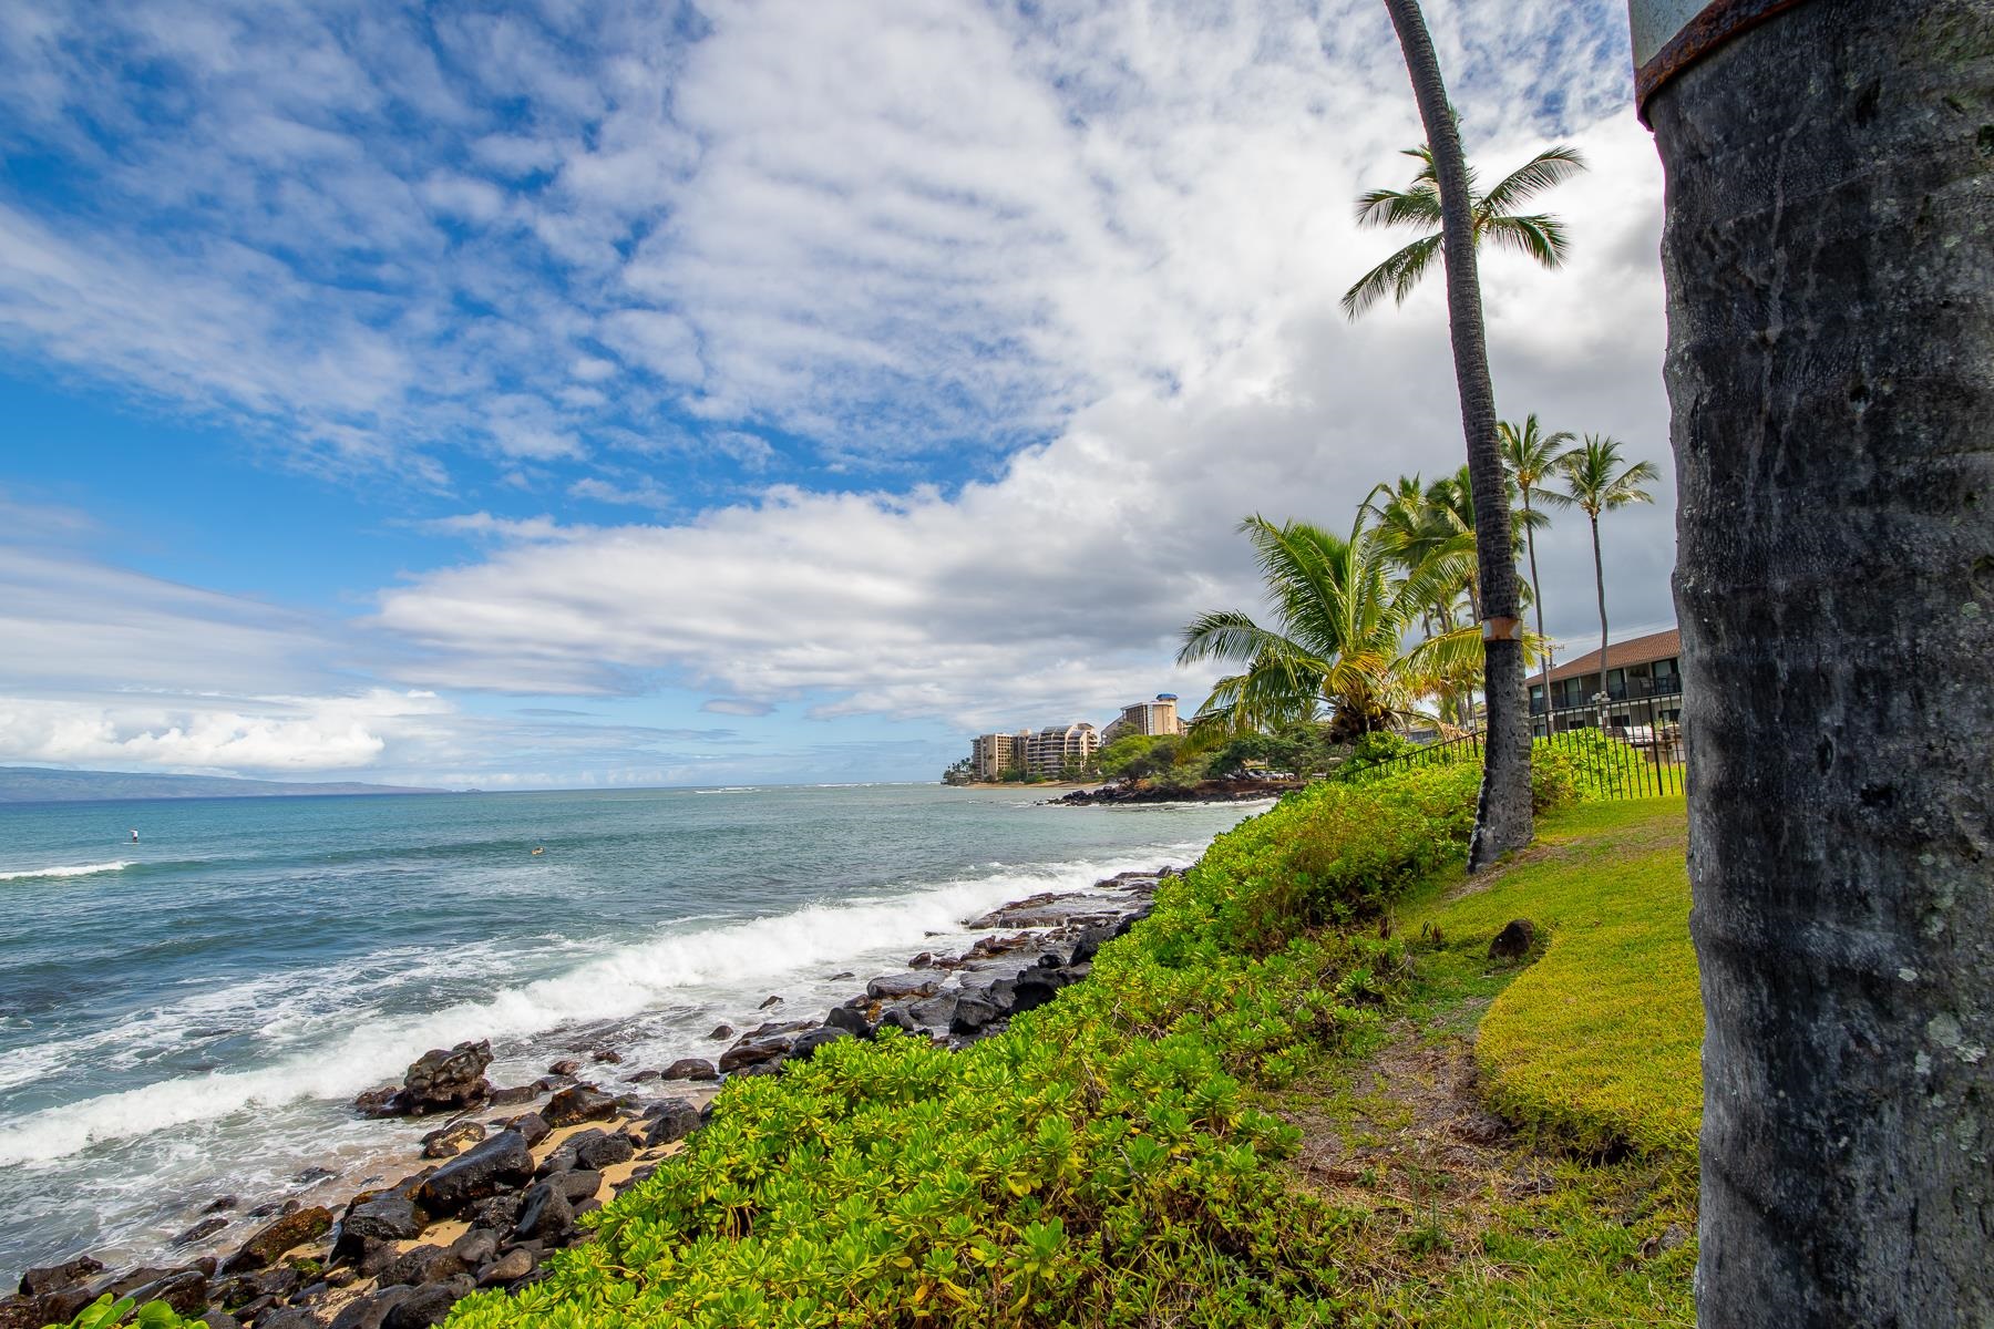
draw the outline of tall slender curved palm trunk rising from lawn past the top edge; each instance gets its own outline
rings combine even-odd
[[[1484,624],[1482,693],[1488,741],[1482,757],[1482,801],[1468,845],[1468,871],[1521,849],[1531,837],[1529,703],[1523,697],[1523,642],[1517,632],[1515,554],[1509,548],[1509,498],[1503,492],[1501,444],[1496,438],[1496,389],[1482,331],[1482,285],[1476,275],[1476,233],[1468,203],[1468,157],[1440,78],[1440,58],[1426,32],[1418,0],[1384,0],[1406,52],[1406,72],[1420,104],[1426,141],[1434,149],[1440,185],[1442,253],[1448,265],[1448,329],[1454,341],[1454,383],[1462,395],[1468,440],[1468,480],[1476,500],[1476,564]]]

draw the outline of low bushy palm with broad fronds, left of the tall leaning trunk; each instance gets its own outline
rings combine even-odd
[[[1274,602],[1274,626],[1220,610],[1184,628],[1178,664],[1246,665],[1212,683],[1192,731],[1276,729],[1314,719],[1326,705],[1330,737],[1348,741],[1384,729],[1410,713],[1436,679],[1478,662],[1482,638],[1474,626],[1406,650],[1414,622],[1452,570],[1446,560],[1430,560],[1394,580],[1392,556],[1366,530],[1366,516],[1360,508],[1348,540],[1308,522],[1240,522]]]

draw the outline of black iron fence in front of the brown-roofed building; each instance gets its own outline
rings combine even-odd
[[[1669,693],[1539,711],[1531,725],[1537,751],[1565,757],[1593,797],[1641,799],[1683,793],[1681,715],[1683,697]],[[1346,761],[1330,779],[1372,779],[1450,761],[1482,761],[1482,733],[1438,739],[1382,761]]]

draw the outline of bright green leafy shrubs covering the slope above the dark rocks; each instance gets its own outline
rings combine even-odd
[[[1400,940],[1310,929],[1458,855],[1476,783],[1438,767],[1284,799],[1164,879],[1087,982],[963,1052],[881,1030],[728,1082],[596,1241],[451,1323],[1336,1319],[1342,1217],[1270,1166],[1296,1132],[1254,1096],[1404,990]]]

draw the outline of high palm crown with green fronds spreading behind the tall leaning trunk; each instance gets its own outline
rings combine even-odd
[[[1426,277],[1426,269],[1434,265],[1434,257],[1440,255],[1440,183],[1434,173],[1434,153],[1422,143],[1406,147],[1404,155],[1420,161],[1420,173],[1412,177],[1412,187],[1372,189],[1360,197],[1358,225],[1416,225],[1426,227],[1428,235],[1412,241],[1344,291],[1344,315],[1352,319],[1382,301],[1386,293],[1392,295],[1394,303],[1404,305],[1412,289]],[[1517,213],[1515,207],[1583,169],[1585,157],[1575,147],[1559,143],[1545,147],[1503,175],[1488,193],[1476,193],[1476,173],[1474,167],[1468,167],[1468,209],[1474,217],[1476,243],[1490,239],[1505,249],[1525,253],[1545,267],[1563,265],[1565,225],[1551,213]]]

